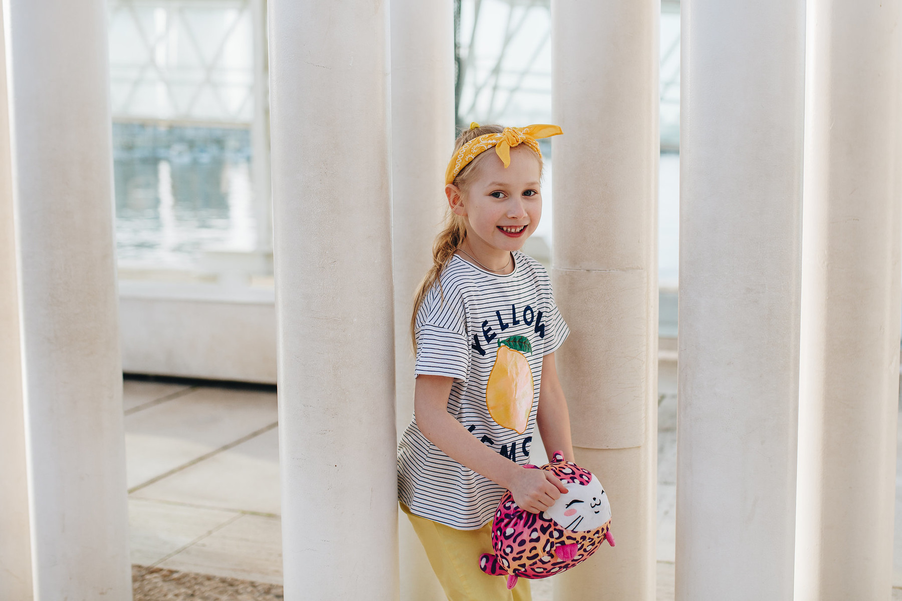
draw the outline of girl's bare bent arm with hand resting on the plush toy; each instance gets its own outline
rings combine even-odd
[[[479,442],[447,412],[454,378],[417,377],[413,409],[419,432],[448,457],[511,491],[521,508],[538,514],[566,493],[560,480],[544,469],[527,469]],[[544,386],[544,385],[543,385]]]

